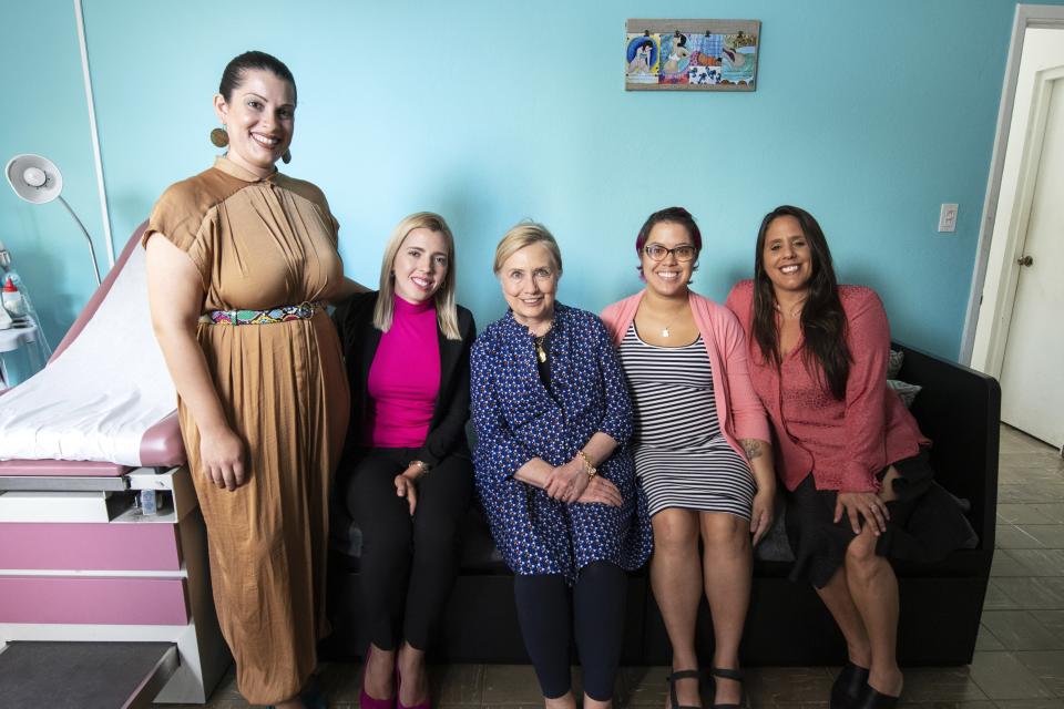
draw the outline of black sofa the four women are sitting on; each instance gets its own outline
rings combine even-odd
[[[912,413],[933,441],[931,460],[939,482],[971,503],[969,518],[979,534],[975,548],[954,552],[940,564],[898,564],[902,665],[965,665],[972,659],[994,549],[998,504],[998,438],[1001,390],[990,377],[920,350],[906,353],[899,379],[923,388]],[[357,526],[334,514],[328,613],[334,634],[323,656],[361,656],[367,638],[359,624]],[[744,664],[839,665],[842,636],[811,587],[787,580],[786,537],[779,521],[775,542],[758,548],[754,589],[743,641]],[[461,572],[449,600],[433,656],[451,662],[528,662],[513,604],[513,577],[492,544],[482,514],[470,511],[463,525]],[[776,557],[776,558],[766,558]],[[646,569],[630,575],[622,661],[666,665],[668,638],[649,590]],[[699,655],[709,657],[713,633],[703,603]]]

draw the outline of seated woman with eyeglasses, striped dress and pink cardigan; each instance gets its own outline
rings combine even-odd
[[[667,706],[700,706],[695,619],[703,592],[715,635],[714,706],[739,706],[751,549],[773,525],[776,496],[768,423],[738,320],[689,288],[702,250],[690,213],[652,214],[635,250],[646,287],[602,319],[635,407],[635,472],[654,530],[651,585],[673,646]]]

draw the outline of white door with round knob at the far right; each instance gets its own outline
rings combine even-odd
[[[1064,78],[1043,86],[1042,156],[1001,370],[1001,418],[1064,445]],[[1037,93],[1037,90],[1036,90]],[[1037,135],[1027,140],[1037,141]]]

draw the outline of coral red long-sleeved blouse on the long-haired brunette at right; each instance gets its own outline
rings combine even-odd
[[[750,378],[776,429],[776,471],[788,490],[812,473],[818,490],[877,491],[879,471],[930,444],[887,387],[890,326],[879,296],[839,286],[839,299],[852,358],[841,401],[806,368],[801,340],[777,370],[749,339]],[[754,281],[736,284],[727,306],[750,331]]]

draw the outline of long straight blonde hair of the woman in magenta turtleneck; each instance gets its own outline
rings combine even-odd
[[[447,244],[447,275],[443,277],[443,284],[433,294],[436,301],[436,321],[443,332],[443,337],[449,340],[462,339],[458,330],[458,304],[454,302],[454,280],[457,264],[454,263],[454,236],[451,234],[451,227],[438,214],[432,212],[418,212],[411,214],[399,223],[385,245],[385,257],[380,263],[380,295],[377,296],[377,306],[374,308],[374,327],[381,332],[391,329],[391,319],[395,315],[395,294],[396,275],[392,268],[396,264],[396,256],[402,247],[403,240],[415,229],[429,229],[443,235],[443,242]]]

